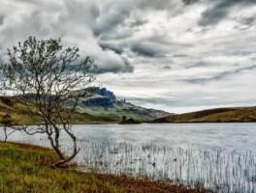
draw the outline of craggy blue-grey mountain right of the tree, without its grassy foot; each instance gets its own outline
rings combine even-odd
[[[78,104],[77,110],[80,113],[100,116],[112,122],[119,122],[123,116],[145,122],[170,115],[164,111],[136,106],[125,99],[118,100],[106,88],[93,87],[87,90],[88,96],[80,98]]]

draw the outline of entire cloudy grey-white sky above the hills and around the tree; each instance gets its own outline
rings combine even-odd
[[[28,36],[95,59],[95,85],[145,107],[256,105],[255,0],[1,0],[0,61]]]

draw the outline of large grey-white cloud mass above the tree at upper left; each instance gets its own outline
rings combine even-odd
[[[119,55],[120,52],[104,48],[93,36],[97,18],[102,15],[97,2],[10,0],[0,3],[0,6],[0,41],[4,47],[0,55],[4,61],[7,61],[6,48],[17,41],[24,41],[29,36],[36,36],[39,40],[61,37],[64,46],[80,47],[80,56],[91,56],[103,72],[133,71],[132,65]],[[110,19],[107,25],[111,22]]]

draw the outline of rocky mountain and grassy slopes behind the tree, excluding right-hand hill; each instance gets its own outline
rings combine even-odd
[[[76,91],[81,92],[81,91]],[[77,112],[73,117],[73,124],[89,123],[119,123],[123,116],[140,122],[148,122],[156,118],[169,115],[164,111],[146,109],[136,106],[125,99],[118,100],[111,91],[106,88],[92,87],[87,89],[88,95],[80,98]],[[33,95],[28,95],[26,100],[37,109]],[[74,100],[66,103],[67,107]],[[25,103],[20,97],[0,96],[0,124],[6,114],[10,114],[15,124],[39,124],[40,117],[34,117],[27,110]]]

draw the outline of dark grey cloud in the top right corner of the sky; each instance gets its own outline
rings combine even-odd
[[[255,0],[208,0],[209,8],[201,15],[199,25],[214,25],[225,18],[234,6],[240,7],[256,4]],[[211,5],[210,5],[211,4]]]

